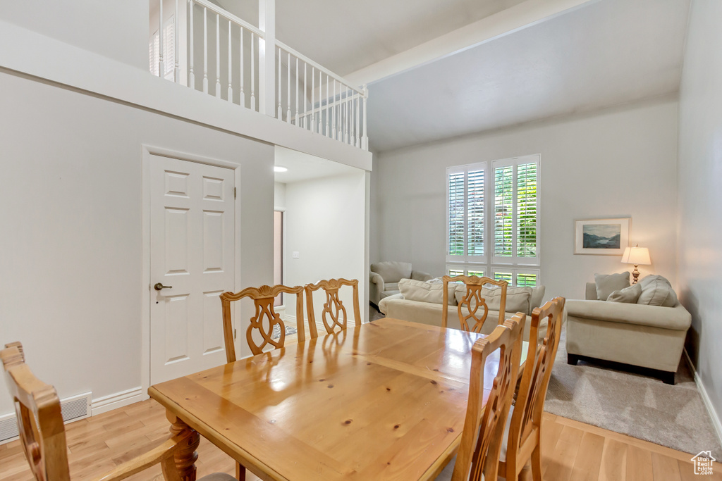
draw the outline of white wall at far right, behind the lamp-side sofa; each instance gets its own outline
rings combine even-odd
[[[692,3],[679,93],[679,299],[687,351],[722,415],[722,2]],[[718,429],[720,428],[718,424]]]

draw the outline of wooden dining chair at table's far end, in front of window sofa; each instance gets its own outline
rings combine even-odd
[[[448,322],[448,302],[449,302],[449,291],[448,284],[450,282],[461,281],[466,285],[466,294],[458,302],[458,322],[461,324],[461,329],[469,330],[469,319],[474,321],[474,325],[471,327],[473,332],[481,332],[484,321],[487,319],[489,314],[489,306],[487,306],[484,297],[482,297],[482,288],[487,284],[493,286],[499,286],[501,289],[501,299],[499,305],[499,325],[504,324],[504,309],[506,307],[506,288],[508,286],[507,281],[495,281],[488,277],[478,277],[477,275],[444,275],[443,278],[444,294],[443,294],[443,306],[441,309],[441,327],[446,327]],[[464,314],[462,307],[466,307],[469,314]],[[477,312],[482,309],[483,314],[479,316]]]

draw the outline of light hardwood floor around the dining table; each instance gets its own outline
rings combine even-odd
[[[168,426],[153,400],[66,425],[73,480],[94,479],[160,444]],[[722,464],[715,464],[713,476],[698,476],[690,454],[550,414],[544,415],[541,446],[546,481],[722,481]],[[198,452],[199,476],[233,473],[231,459],[202,438]],[[158,467],[129,479],[156,478],[162,479]],[[256,479],[248,473],[248,480]],[[0,446],[0,480],[32,480],[19,441]]]

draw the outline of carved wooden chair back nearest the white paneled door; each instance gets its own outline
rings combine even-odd
[[[264,352],[266,346],[271,345],[274,349],[282,348],[286,341],[286,325],[274,309],[276,296],[281,293],[296,295],[296,326],[298,330],[298,341],[305,340],[303,330],[303,287],[295,286],[261,286],[260,288],[248,287],[238,293],[224,292],[221,294],[221,305],[223,309],[223,337],[225,340],[226,360],[229,363],[235,362],[235,343],[233,340],[233,323],[231,318],[231,302],[240,301],[244,297],[253,299],[256,306],[256,314],[251,317],[251,323],[245,330],[245,339],[248,347],[255,356]],[[280,337],[273,338],[274,326],[279,326]],[[261,335],[261,341],[256,343],[253,339],[253,332]]]

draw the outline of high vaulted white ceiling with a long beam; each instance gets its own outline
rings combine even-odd
[[[257,1],[217,3],[258,17]],[[544,4],[560,13],[435,54],[464,27],[473,35],[486,20],[493,30],[500,16],[524,20],[525,10]],[[365,72],[370,149],[378,152],[673,94],[689,7],[690,0],[276,0],[276,26],[279,40],[337,74],[356,80]],[[427,49],[435,56],[411,56],[416,66],[404,58],[393,71],[396,58],[435,40]]]

